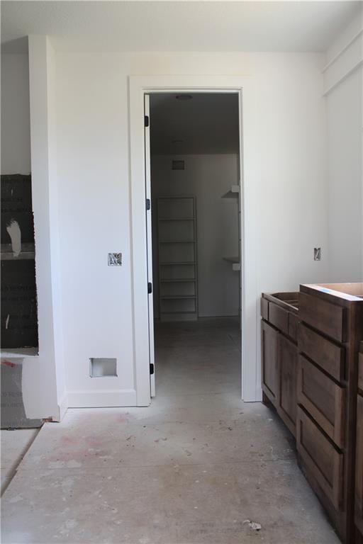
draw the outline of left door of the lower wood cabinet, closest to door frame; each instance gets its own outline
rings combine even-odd
[[[277,342],[279,332],[262,321],[262,389],[273,404],[277,398]]]

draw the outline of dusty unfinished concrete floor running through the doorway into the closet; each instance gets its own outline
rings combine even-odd
[[[339,543],[289,432],[239,399],[235,320],[155,337],[151,407],[45,424],[4,494],[2,543]]]

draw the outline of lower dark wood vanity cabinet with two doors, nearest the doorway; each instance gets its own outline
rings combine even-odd
[[[298,293],[262,295],[262,390],[296,435]]]

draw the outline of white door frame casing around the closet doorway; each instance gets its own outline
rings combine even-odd
[[[240,195],[242,238],[242,399],[262,399],[256,270],[257,120],[252,77],[130,76],[130,198],[133,280],[133,349],[136,402],[150,404],[145,216],[144,94],[162,92],[237,92],[240,101]],[[152,123],[152,120],[150,120]]]

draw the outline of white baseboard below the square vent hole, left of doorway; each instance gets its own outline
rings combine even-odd
[[[134,389],[112,391],[69,391],[68,408],[125,407],[136,405]]]

